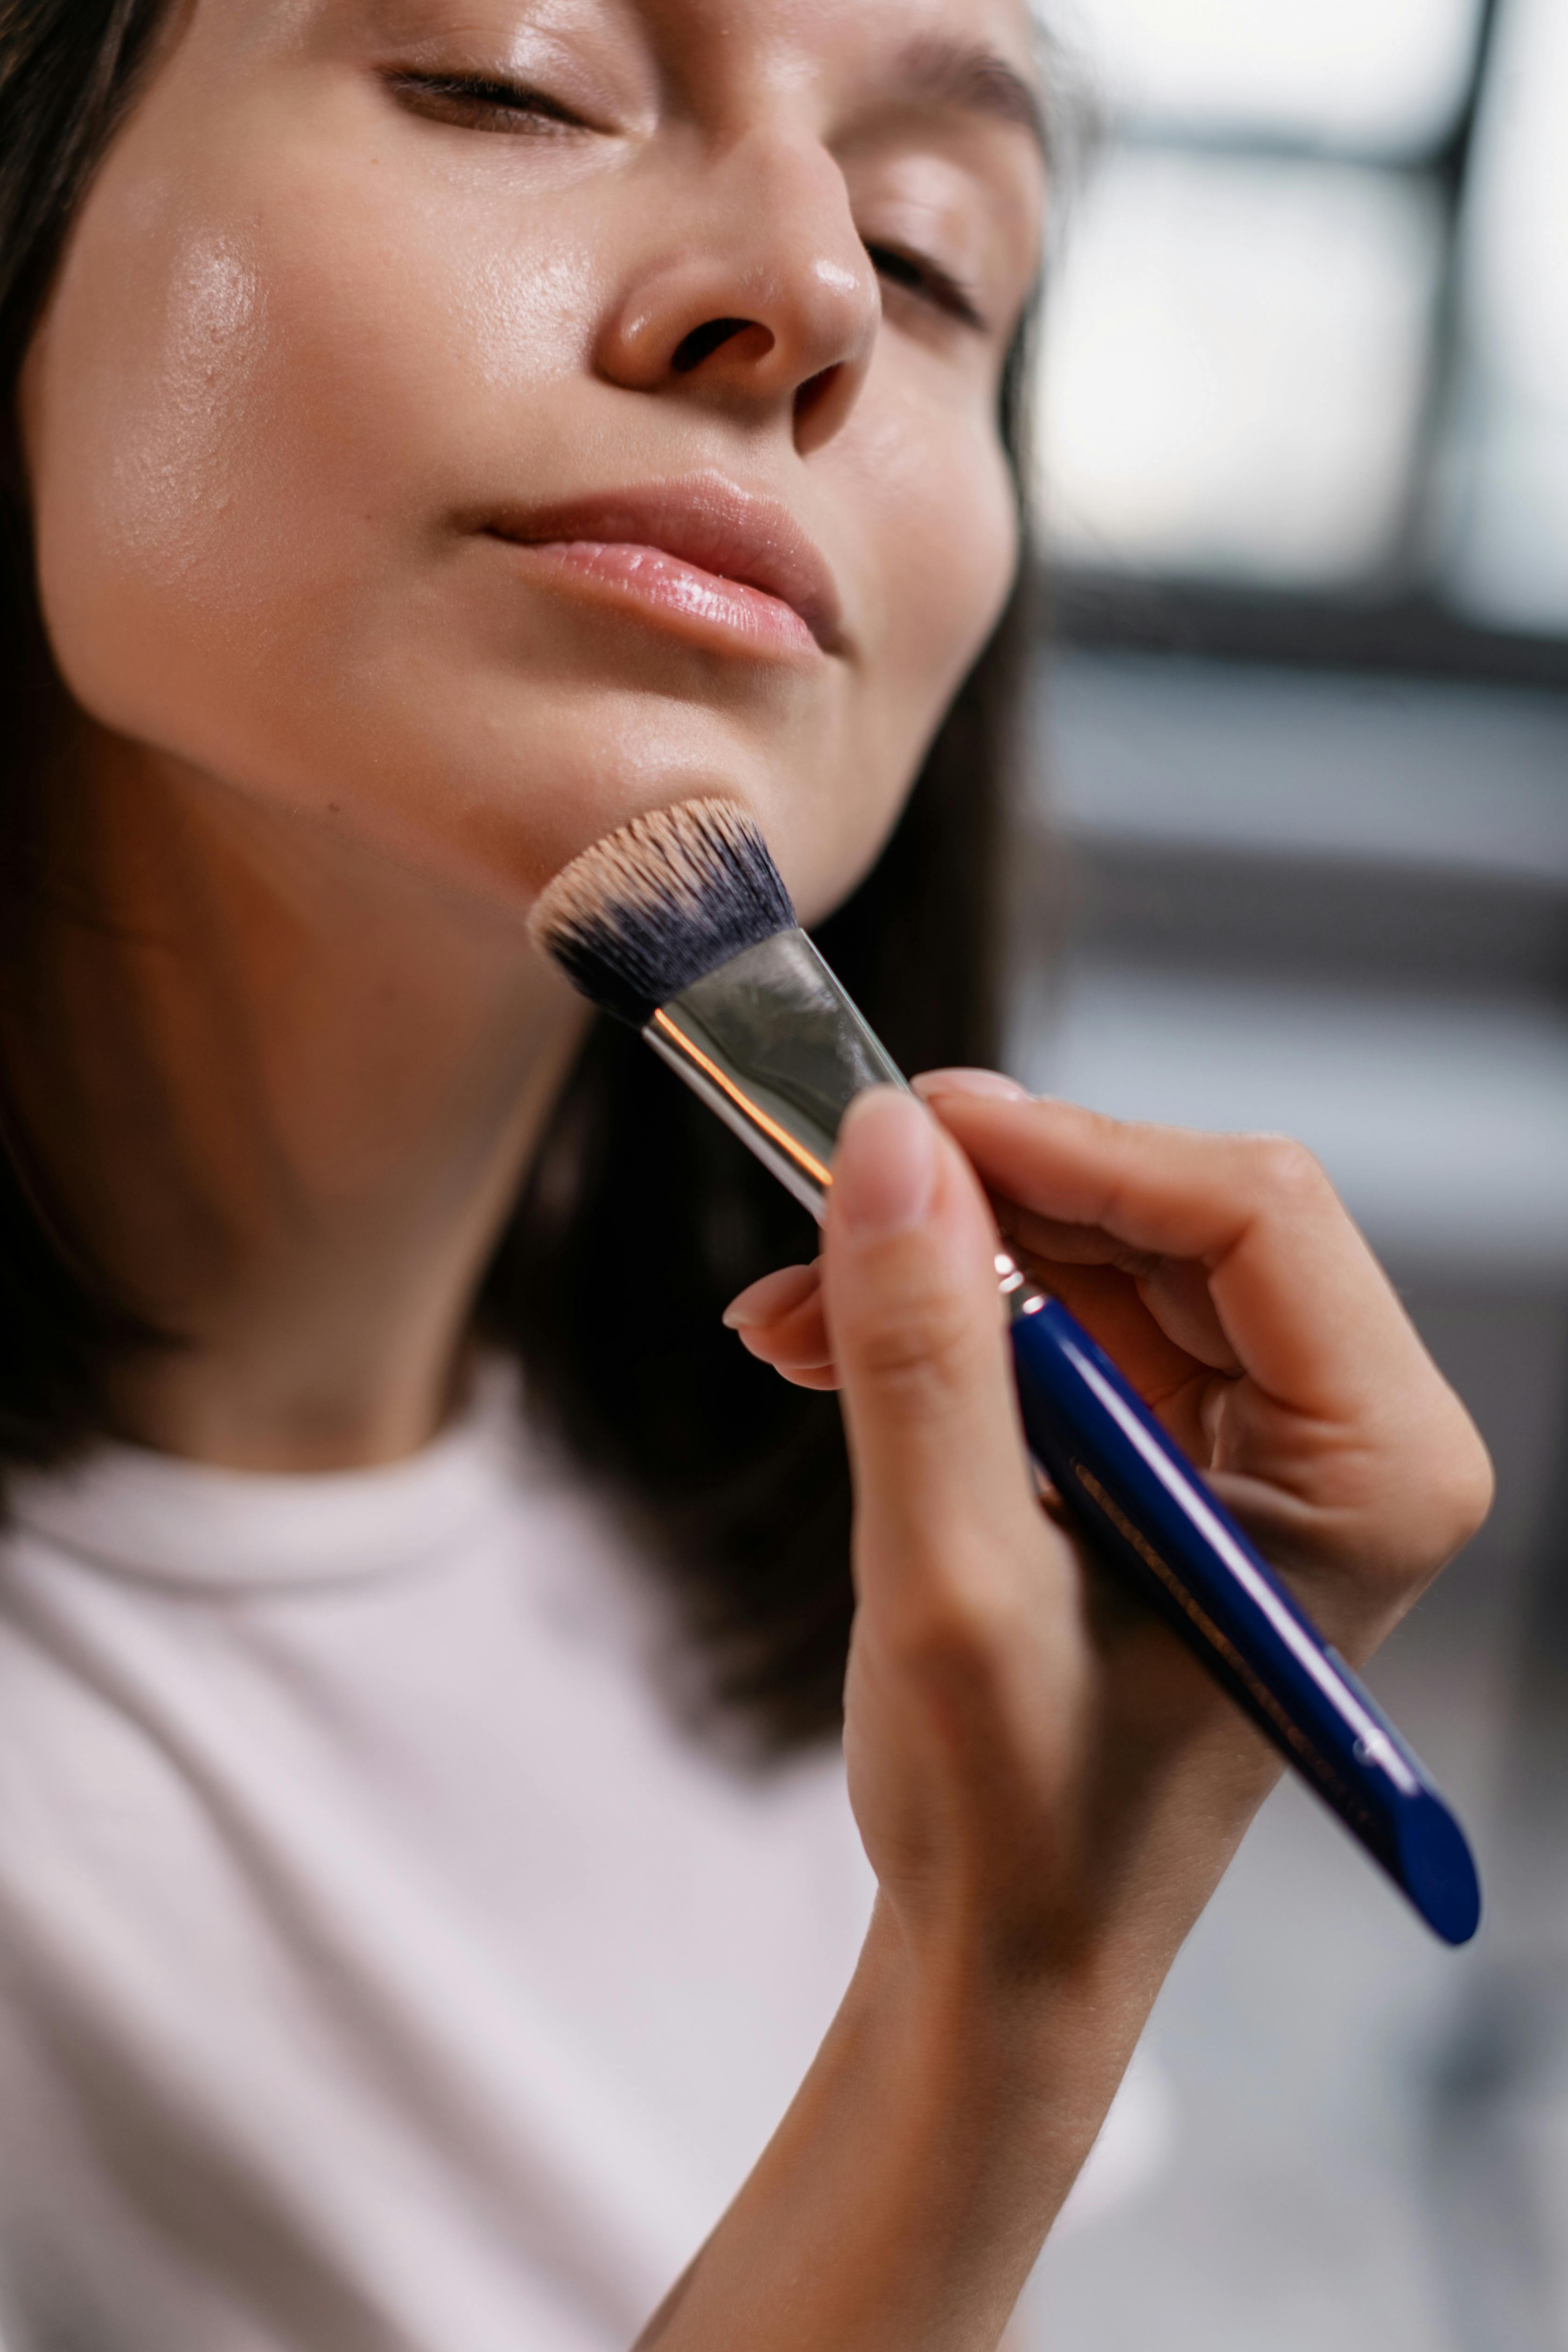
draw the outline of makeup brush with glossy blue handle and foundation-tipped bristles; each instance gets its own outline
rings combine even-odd
[[[729,800],[632,818],[545,889],[531,931],[820,1221],[839,1120],[905,1080],[795,922]],[[1030,1451],[1098,1557],[1143,1592],[1446,1943],[1481,1889],[1465,1832],[1373,1696],[1074,1315],[1006,1256]]]

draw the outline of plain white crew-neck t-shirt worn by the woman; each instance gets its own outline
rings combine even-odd
[[[491,1369],[390,1470],[134,1449],[0,1541],[9,2352],[625,2352],[837,2009],[837,1752],[679,1724]]]

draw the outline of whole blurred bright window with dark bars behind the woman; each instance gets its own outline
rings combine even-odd
[[[1110,125],[1046,315],[1058,576],[1568,635],[1568,0],[1046,19]]]

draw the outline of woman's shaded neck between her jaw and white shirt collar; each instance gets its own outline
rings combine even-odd
[[[520,920],[118,739],[52,793],[45,873],[0,1011],[19,1122],[61,1228],[174,1338],[115,1369],[120,1435],[266,1470],[416,1451],[581,1007]]]

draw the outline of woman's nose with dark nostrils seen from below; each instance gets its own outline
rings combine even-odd
[[[783,414],[806,456],[851,414],[879,320],[837,165],[823,148],[757,136],[701,172],[628,273],[595,365],[628,390],[741,419]]]

